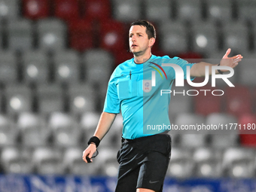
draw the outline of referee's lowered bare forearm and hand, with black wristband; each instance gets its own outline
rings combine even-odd
[[[99,118],[99,123],[93,136],[96,136],[97,138],[99,138],[99,140],[102,140],[105,134],[108,133],[108,130],[110,129],[116,116],[117,114],[111,114],[103,111]],[[87,163],[86,157],[88,156],[91,159],[95,152],[96,145],[91,143],[83,152],[83,160]]]

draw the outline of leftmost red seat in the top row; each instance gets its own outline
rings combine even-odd
[[[48,0],[23,0],[23,15],[29,19],[37,20],[48,17],[50,5]]]

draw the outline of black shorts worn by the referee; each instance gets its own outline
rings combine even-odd
[[[167,134],[123,139],[117,153],[120,167],[115,192],[136,192],[136,188],[162,191],[170,154],[171,137]]]

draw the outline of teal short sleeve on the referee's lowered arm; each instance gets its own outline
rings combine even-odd
[[[111,79],[108,82],[108,91],[105,96],[103,111],[113,114],[120,113],[120,99],[117,95],[117,85],[115,84],[114,79]]]

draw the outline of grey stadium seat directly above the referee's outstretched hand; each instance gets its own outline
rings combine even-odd
[[[230,47],[237,53],[248,51],[248,29],[245,23],[236,21],[223,23],[224,47]]]

